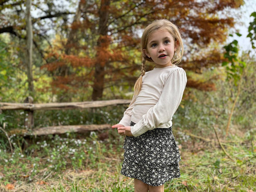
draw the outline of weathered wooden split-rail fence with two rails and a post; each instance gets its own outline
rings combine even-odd
[[[114,99],[105,101],[85,101],[85,102],[71,102],[71,103],[33,103],[32,97],[27,97],[24,103],[5,103],[0,102],[1,110],[24,110],[27,118],[24,125],[30,135],[47,135],[47,134],[61,134],[65,132],[87,132],[110,129],[110,124],[101,125],[60,125],[50,126],[34,129],[34,111],[35,110],[61,110],[61,109],[84,109],[84,108],[99,108],[106,106],[124,105],[129,104],[131,100],[128,99]]]

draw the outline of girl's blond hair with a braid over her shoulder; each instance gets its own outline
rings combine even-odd
[[[147,57],[144,53],[143,49],[146,49],[148,37],[158,29],[167,30],[171,36],[175,39],[175,48],[174,55],[171,59],[171,63],[174,65],[177,65],[179,62],[181,62],[182,56],[183,56],[183,42],[182,37],[179,28],[171,23],[170,21],[166,19],[160,19],[155,20],[151,24],[149,24],[141,37],[141,50],[142,50],[142,63],[141,63],[141,75],[137,79],[135,85],[134,85],[134,95],[137,96],[141,90],[142,87],[142,77],[145,75],[146,69],[145,69],[145,63],[146,60],[149,62],[154,62],[151,58]]]

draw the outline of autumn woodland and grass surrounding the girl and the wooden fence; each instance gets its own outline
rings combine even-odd
[[[180,27],[188,83],[173,118],[182,177],[165,190],[256,191],[256,13],[241,35],[243,4],[0,0],[0,102],[131,99],[142,31],[166,18]],[[34,126],[115,124],[125,107],[37,111]],[[119,173],[123,137],[115,130],[27,138],[26,115],[0,112],[0,191],[132,191]]]

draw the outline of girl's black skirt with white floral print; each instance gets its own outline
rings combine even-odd
[[[131,122],[131,126],[135,123]],[[171,127],[156,128],[138,137],[126,136],[121,173],[151,186],[179,178],[181,156]]]

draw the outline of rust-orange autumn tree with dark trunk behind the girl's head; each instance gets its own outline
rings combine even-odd
[[[223,10],[238,8],[242,1],[101,0],[96,4],[85,1],[80,1],[80,4],[84,4],[83,7],[86,9],[81,12],[80,24],[74,22],[70,30],[76,31],[78,37],[75,42],[76,47],[79,48],[79,40],[88,39],[85,47],[91,58],[73,55],[72,60],[69,60],[70,57],[65,55],[62,56],[62,61],[65,60],[65,66],[69,65],[72,69],[81,66],[86,69],[91,68],[92,73],[88,73],[87,80],[93,82],[93,99],[95,100],[102,97],[105,87],[110,84],[118,85],[119,79],[127,79],[128,82],[130,80],[130,83],[134,84],[137,77],[134,72],[139,70],[141,58],[138,31],[143,30],[155,19],[166,18],[180,27],[186,45],[185,57],[180,65],[185,70],[200,73],[203,68],[219,65],[223,60],[220,48],[218,46],[214,49],[207,48],[225,41],[227,28],[232,27],[234,21]],[[81,49],[76,51],[81,53]],[[56,66],[64,67],[61,62],[48,63],[47,66],[48,69],[56,69]],[[69,74],[72,71],[71,68],[69,69],[64,75],[67,78],[60,79],[60,76],[63,76],[60,74],[56,81],[64,84],[74,82],[76,75]],[[151,66],[147,69],[151,69]],[[70,82],[65,81],[68,79]],[[61,84],[53,85],[61,86]],[[214,84],[211,82],[200,83],[190,77],[188,86],[202,90],[214,89]]]

